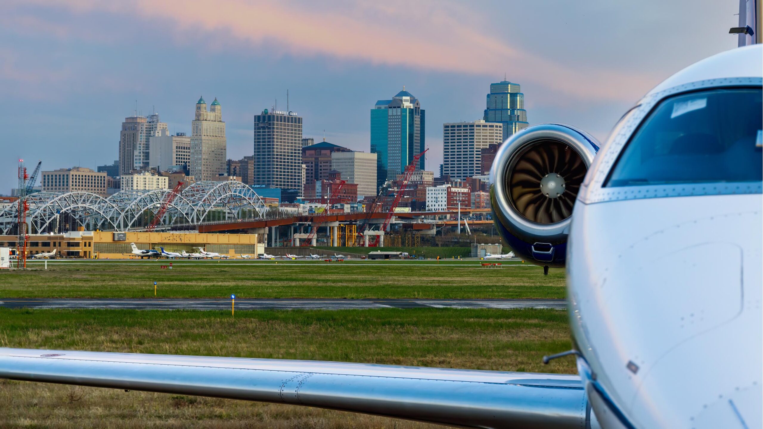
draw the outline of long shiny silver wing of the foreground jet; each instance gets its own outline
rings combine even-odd
[[[0,378],[307,405],[458,427],[591,427],[580,378],[561,374],[0,348]]]

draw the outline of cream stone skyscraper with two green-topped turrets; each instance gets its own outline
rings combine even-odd
[[[195,119],[191,122],[191,176],[196,180],[212,180],[227,173],[227,140],[220,102],[207,110],[201,97],[196,102]]]

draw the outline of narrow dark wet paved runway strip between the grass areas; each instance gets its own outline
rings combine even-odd
[[[122,310],[229,310],[221,298],[10,298],[2,308]],[[563,299],[337,299],[236,298],[237,310],[342,310],[364,308],[567,308]]]

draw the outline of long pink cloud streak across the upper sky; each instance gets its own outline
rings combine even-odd
[[[320,10],[312,4],[245,0],[27,0],[24,4],[29,2],[76,13],[106,11],[167,22],[179,43],[210,39],[205,47],[230,39],[253,50],[293,56],[491,76],[506,71],[517,82],[575,98],[633,101],[658,82],[653,76],[579,69],[524,52],[483,30],[486,25],[479,15],[449,2],[335,2],[320,5]]]

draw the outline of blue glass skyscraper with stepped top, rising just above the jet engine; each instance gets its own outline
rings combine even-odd
[[[506,79],[490,84],[488,105],[482,119],[504,124],[503,141],[511,134],[530,125],[527,122],[527,111],[524,109],[524,94],[520,91],[518,83],[512,83]]]

